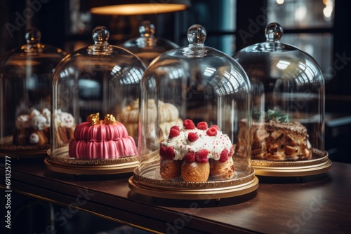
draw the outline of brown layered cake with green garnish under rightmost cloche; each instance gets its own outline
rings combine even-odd
[[[236,156],[245,155],[246,120],[239,123]],[[262,160],[308,160],[312,150],[307,129],[282,111],[269,110],[263,121],[251,123],[251,158]]]

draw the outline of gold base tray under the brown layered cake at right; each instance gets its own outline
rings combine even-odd
[[[312,159],[303,161],[251,160],[256,175],[267,177],[304,177],[327,172],[331,167],[328,152],[312,149]]]

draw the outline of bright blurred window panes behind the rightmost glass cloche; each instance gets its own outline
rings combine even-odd
[[[284,29],[328,29],[333,27],[334,1],[278,1],[267,2],[268,22],[279,22]],[[324,78],[328,81],[333,76],[332,48],[333,35],[318,34],[285,34],[282,42],[291,44],[312,55],[322,68]]]

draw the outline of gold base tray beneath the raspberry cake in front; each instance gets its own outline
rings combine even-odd
[[[258,178],[253,169],[249,175],[238,174],[236,179],[206,182],[165,181],[147,176],[157,170],[159,163],[154,163],[148,166],[144,173],[146,177],[143,177],[137,173],[136,168],[133,176],[128,179],[129,188],[152,197],[187,200],[232,198],[251,193],[258,188]]]

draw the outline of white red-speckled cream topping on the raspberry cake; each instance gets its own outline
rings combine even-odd
[[[183,160],[185,153],[197,153],[201,149],[206,149],[209,151],[207,158],[213,158],[214,160],[220,159],[220,153],[222,153],[223,149],[227,149],[227,152],[230,153],[232,142],[226,134],[223,134],[221,131],[217,131],[216,136],[208,136],[206,131],[207,130],[199,130],[197,128],[194,130],[186,130],[183,128],[180,129],[180,135],[177,137],[164,137],[161,145],[173,147],[175,153],[173,158],[174,160]],[[194,142],[190,142],[187,139],[187,135],[189,135],[190,132],[197,133],[199,139]]]

